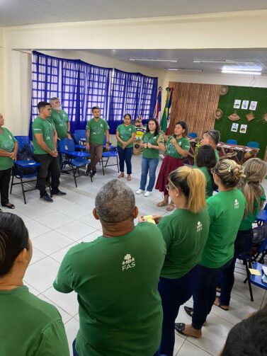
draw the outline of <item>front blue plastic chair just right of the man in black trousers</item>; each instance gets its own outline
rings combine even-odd
[[[65,155],[65,159],[63,161],[64,168],[66,165],[71,167],[69,171],[72,171],[73,173],[75,186],[77,188],[78,185],[76,178],[80,176],[79,168],[85,167],[86,164],[89,163],[88,158],[90,157],[90,154],[87,152],[75,151],[75,144],[73,139],[61,139],[59,141],[59,151]],[[76,173],[78,174],[76,175]],[[93,182],[92,178],[91,182]]]

